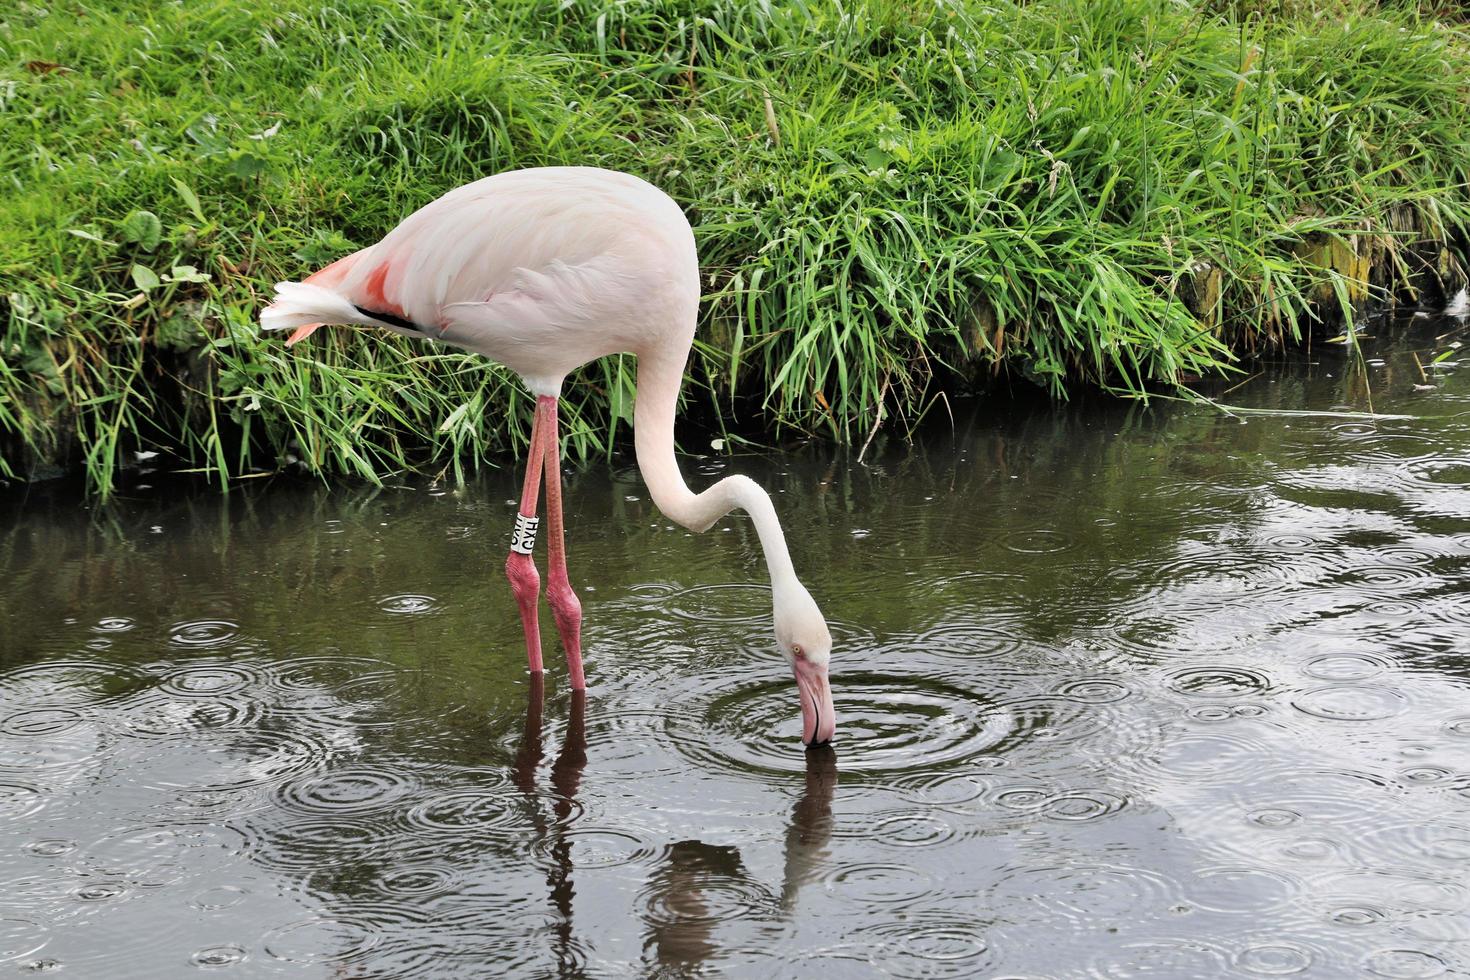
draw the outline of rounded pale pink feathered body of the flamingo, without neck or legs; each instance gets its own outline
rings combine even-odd
[[[700,301],[694,234],[679,206],[645,181],[595,167],[466,184],[343,263],[307,284],[497,360],[538,395],[607,354],[688,348]],[[262,317],[266,329],[272,316]]]

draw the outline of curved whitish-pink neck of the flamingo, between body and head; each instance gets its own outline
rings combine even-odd
[[[659,353],[639,356],[634,445],[648,495],[669,520],[694,532],[707,530],[732,510],[744,510],[760,536],[772,588],[800,588],[776,508],[756,480],[748,476],[726,476],[700,494],[684,482],[673,454],[673,416],[682,382],[684,359]]]

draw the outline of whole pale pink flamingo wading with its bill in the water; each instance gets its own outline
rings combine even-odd
[[[801,741],[835,729],[832,635],[797,577],[770,497],[745,476],[695,494],[673,451],[673,420],[694,341],[700,263],[675,201],[629,173],[595,167],[510,170],[459,187],[406,217],[375,245],[303,282],[276,284],[266,331],[297,344],[325,325],[372,326],[451,344],[514,370],[537,398],[506,577],[520,610],[526,660],[541,674],[539,573],[532,551],[538,494],[547,495],[547,604],[575,691],[584,691],[582,607],[566,570],[557,401],[566,376],[598,357],[638,359],[634,447],[654,504],[707,530],[732,510],[756,525],[770,573],[776,645],[801,701]]]

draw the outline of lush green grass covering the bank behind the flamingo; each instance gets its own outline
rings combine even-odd
[[[59,68],[56,68],[59,66]],[[462,473],[528,398],[388,335],[287,351],[269,284],[510,167],[686,209],[717,426],[861,439],[994,373],[1232,370],[1454,279],[1470,34],[1407,3],[22,1],[0,13],[0,475]],[[1457,251],[1458,250],[1458,251]],[[626,435],[632,359],[570,388]]]

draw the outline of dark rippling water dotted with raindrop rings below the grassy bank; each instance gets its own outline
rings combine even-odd
[[[0,970],[1464,976],[1470,363],[1420,389],[1410,353],[1452,328],[1227,397],[1413,422],[1092,406],[691,460],[778,492],[829,752],[750,527],[685,533],[626,466],[567,488],[585,701],[550,642],[525,674],[513,473],[13,495]]]

